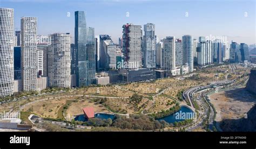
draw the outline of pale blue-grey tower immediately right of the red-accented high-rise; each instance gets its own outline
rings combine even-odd
[[[156,68],[156,35],[155,25],[147,23],[144,25],[143,36],[143,64],[145,68]]]

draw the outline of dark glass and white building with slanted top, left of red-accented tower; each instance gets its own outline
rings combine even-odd
[[[109,35],[103,34],[100,39],[100,68],[116,69],[117,47]]]

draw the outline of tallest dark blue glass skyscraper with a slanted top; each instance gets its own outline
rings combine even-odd
[[[77,86],[87,86],[86,20],[84,11],[75,12],[75,48]]]

